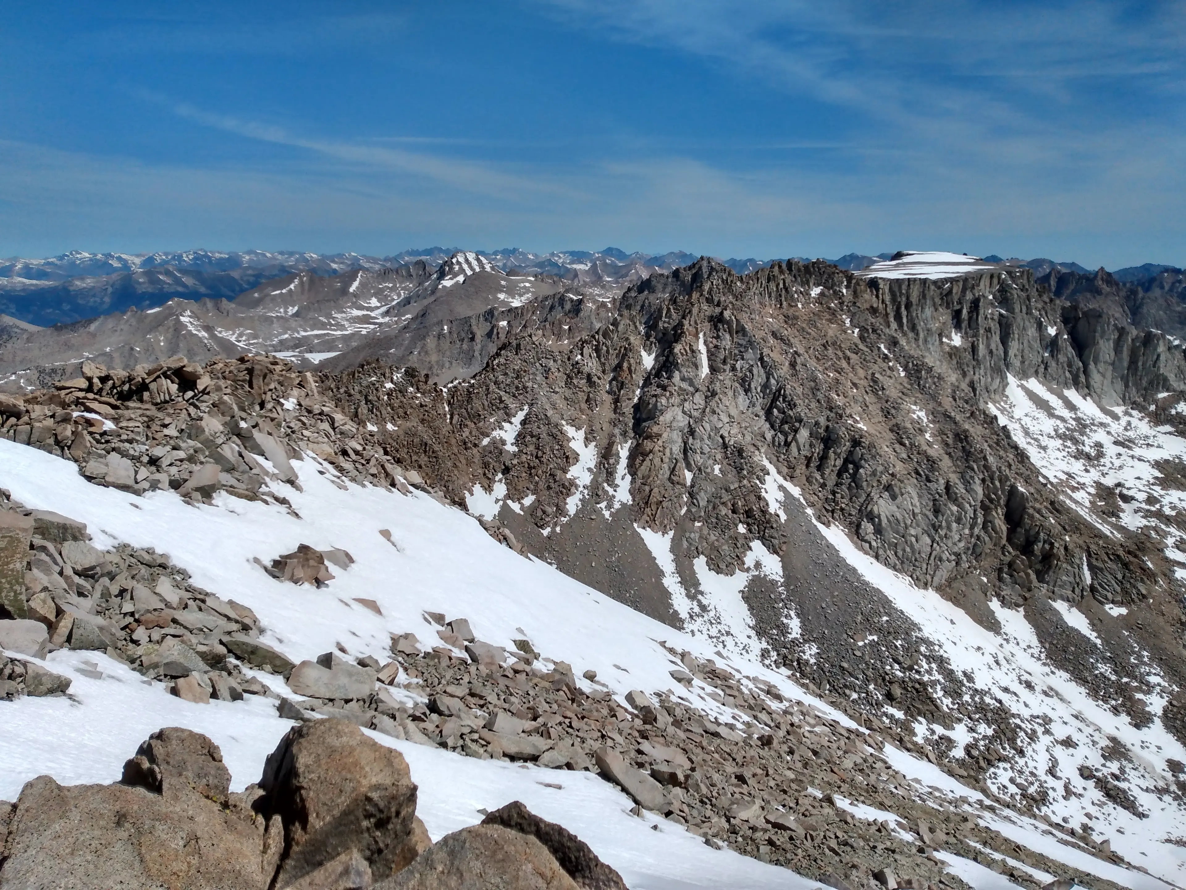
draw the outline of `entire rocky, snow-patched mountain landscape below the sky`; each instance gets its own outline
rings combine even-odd
[[[0,888],[1186,886],[1184,280],[6,261]]]

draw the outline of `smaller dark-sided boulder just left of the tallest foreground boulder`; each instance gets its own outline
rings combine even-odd
[[[204,797],[224,801],[230,794],[230,770],[222,749],[199,732],[167,726],[140,743],[123,764],[123,784],[140,786],[173,797],[179,784]]]

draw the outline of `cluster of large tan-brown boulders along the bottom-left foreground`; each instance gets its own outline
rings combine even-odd
[[[433,844],[403,757],[344,720],[295,726],[230,792],[209,738],[154,732],[109,786],[28,782],[0,802],[0,886],[625,890],[559,825],[511,802]]]

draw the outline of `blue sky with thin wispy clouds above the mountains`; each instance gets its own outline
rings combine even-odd
[[[0,8],[0,255],[1186,265],[1186,2]]]

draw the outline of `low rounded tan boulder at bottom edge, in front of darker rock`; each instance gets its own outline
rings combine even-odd
[[[374,890],[579,890],[535,838],[499,825],[448,834]]]

